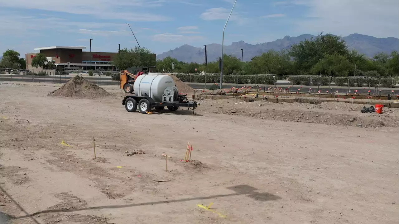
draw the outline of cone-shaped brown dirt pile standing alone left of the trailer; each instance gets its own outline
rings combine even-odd
[[[48,94],[49,96],[58,97],[78,97],[78,98],[98,98],[109,96],[110,94],[100,86],[90,83],[81,76],[75,76],[61,88],[54,90]]]

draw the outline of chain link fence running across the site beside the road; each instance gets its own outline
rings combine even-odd
[[[119,85],[119,71],[79,71],[0,69],[0,81],[66,83],[71,77],[81,75],[88,81],[102,85]],[[193,88],[219,88],[220,74],[174,74]],[[311,93],[360,93],[360,94],[399,94],[398,77],[353,77],[353,76],[288,76],[260,74],[225,74],[223,87],[257,86],[262,90],[279,89],[284,92]]]

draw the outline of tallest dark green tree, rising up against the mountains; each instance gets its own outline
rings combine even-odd
[[[292,45],[289,52],[296,69],[305,72],[310,72],[326,55],[338,54],[346,57],[349,54],[345,41],[332,34],[321,34],[316,38],[301,41]]]

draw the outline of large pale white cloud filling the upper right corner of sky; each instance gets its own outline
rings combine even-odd
[[[376,37],[399,36],[397,0],[297,0],[308,7],[307,18],[296,20],[297,32],[361,33]]]

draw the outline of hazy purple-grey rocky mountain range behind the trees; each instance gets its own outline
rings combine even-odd
[[[298,37],[285,36],[275,41],[250,44],[244,41],[233,42],[231,45],[224,46],[224,53],[241,58],[241,49],[243,49],[243,61],[250,61],[253,57],[261,55],[271,49],[280,51],[289,49],[291,45],[299,43],[305,39],[316,37],[310,34],[302,34]],[[354,33],[347,37],[342,37],[348,45],[349,49],[355,49],[359,53],[365,54],[367,57],[373,57],[380,52],[391,53],[391,51],[399,51],[399,39],[395,37],[377,38],[373,36]],[[221,44],[212,43],[206,46],[208,55],[207,61],[216,61],[221,56]],[[165,57],[173,57],[178,61],[204,63],[205,48],[193,47],[191,45],[182,45],[174,50],[164,52],[156,56],[156,59],[164,59]]]

